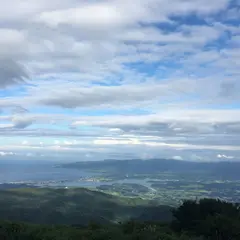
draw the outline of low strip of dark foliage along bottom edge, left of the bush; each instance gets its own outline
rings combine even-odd
[[[16,226],[17,225],[17,228]],[[41,226],[0,223],[1,240],[177,240],[168,226],[161,223],[129,221],[120,225],[86,227]],[[182,240],[184,240],[182,238]],[[186,240],[190,240],[187,238]]]

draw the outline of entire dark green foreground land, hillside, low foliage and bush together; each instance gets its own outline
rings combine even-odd
[[[1,240],[239,240],[240,205],[184,201],[178,208],[84,188],[0,191]]]

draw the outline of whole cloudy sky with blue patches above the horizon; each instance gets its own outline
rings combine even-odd
[[[0,161],[240,161],[239,0],[8,0]]]

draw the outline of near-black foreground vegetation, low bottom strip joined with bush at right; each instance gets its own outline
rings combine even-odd
[[[213,199],[185,201],[173,210],[171,223],[127,221],[87,226],[0,222],[3,240],[239,240],[240,208]],[[37,217],[37,216],[36,216]],[[80,217],[79,217],[80,220]],[[81,222],[81,220],[80,220]]]

